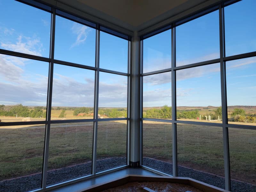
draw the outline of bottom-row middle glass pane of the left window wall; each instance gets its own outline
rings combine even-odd
[[[92,172],[93,122],[51,124],[47,185]]]

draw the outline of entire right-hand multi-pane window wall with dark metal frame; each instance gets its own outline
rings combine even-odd
[[[141,165],[256,191],[256,4],[234,2],[142,36]]]

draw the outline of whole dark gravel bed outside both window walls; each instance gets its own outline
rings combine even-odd
[[[97,161],[97,172],[111,169],[113,167],[126,164],[125,157],[113,157]],[[172,174],[172,164],[158,161],[151,158],[143,158],[143,165],[156,170]],[[47,173],[47,185],[52,185],[65,180],[74,179],[91,173],[91,162],[69,166]],[[182,166],[178,166],[178,175],[180,177],[190,177],[219,188],[225,188],[225,180],[222,177],[197,171]],[[26,177],[20,177],[12,180],[0,182],[1,192],[24,192],[41,187],[42,174],[35,174]],[[231,180],[231,189],[234,192],[256,192],[256,186],[244,182]]]

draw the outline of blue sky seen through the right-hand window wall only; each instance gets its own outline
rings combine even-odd
[[[224,8],[226,56],[256,51],[256,1]],[[219,12],[176,27],[176,66],[220,58]],[[143,72],[171,68],[171,30],[143,41]],[[256,105],[256,57],[226,63],[227,104]],[[171,72],[143,77],[143,107],[171,106]],[[220,63],[176,71],[176,104],[221,106]]]

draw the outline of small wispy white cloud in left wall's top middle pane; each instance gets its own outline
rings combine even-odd
[[[83,44],[86,39],[90,28],[85,25],[81,25],[79,23],[74,23],[73,27],[71,28],[72,32],[76,34],[76,42],[71,45],[70,48],[73,48],[79,44]]]

